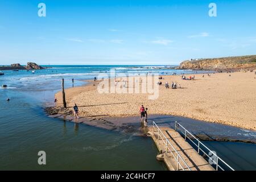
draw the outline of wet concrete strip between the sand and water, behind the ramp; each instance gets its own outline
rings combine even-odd
[[[85,125],[99,127],[101,129],[130,133],[133,135],[146,135],[147,127],[141,124],[141,118],[135,117],[81,117],[74,119],[73,115],[55,114],[49,117],[63,119]],[[148,127],[152,126],[154,121],[158,126],[175,128],[175,121],[180,123],[185,129],[196,135],[201,140],[216,140],[216,141],[232,141],[232,142],[247,142],[256,143],[256,132],[245,130],[238,127],[222,125],[219,123],[210,123],[199,121],[191,118],[175,117],[172,115],[150,115],[148,118]],[[183,131],[178,128],[180,133]],[[184,132],[184,131],[183,131]]]

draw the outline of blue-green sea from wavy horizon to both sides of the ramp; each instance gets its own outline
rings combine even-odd
[[[85,85],[100,74],[110,77],[111,70],[125,75],[206,73],[164,65],[43,66],[48,68],[2,71],[5,75],[0,76],[0,85],[7,88],[0,88],[0,170],[167,170],[156,160],[158,149],[151,138],[49,118],[44,107],[53,105],[62,78],[65,88],[70,88]],[[193,122],[197,128],[195,125],[197,122]],[[203,143],[236,170],[256,169],[256,144]],[[46,152],[46,165],[38,164],[39,151]]]

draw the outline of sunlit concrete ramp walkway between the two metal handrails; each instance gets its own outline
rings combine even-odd
[[[150,134],[158,147],[158,150],[163,152],[162,158],[169,170],[180,171],[184,169],[185,171],[215,171],[208,161],[199,155],[177,131],[166,127],[160,127],[159,129],[162,132],[159,133],[158,130],[153,131],[153,127],[150,127]],[[172,145],[174,148],[168,147],[169,149],[167,150],[166,139],[171,143],[168,143],[168,145]],[[178,154],[179,160],[181,161],[183,159],[185,163],[181,162],[179,165],[177,164],[176,159],[178,158]]]

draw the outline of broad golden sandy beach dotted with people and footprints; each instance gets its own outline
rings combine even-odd
[[[215,73],[210,77],[195,75],[195,80],[181,80],[181,75],[162,76],[159,97],[148,100],[144,93],[98,93],[99,81],[86,86],[65,89],[68,107],[79,106],[87,117],[127,117],[148,107],[148,114],[170,114],[256,130],[256,75],[254,72]],[[185,75],[193,76],[193,75]],[[122,81],[122,79],[117,79]],[[177,82],[179,89],[166,89],[166,82]],[[120,84],[122,85],[122,84]],[[61,92],[56,93],[58,105]]]

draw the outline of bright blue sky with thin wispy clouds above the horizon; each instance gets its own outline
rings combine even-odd
[[[46,4],[46,17],[38,4]],[[209,3],[217,17],[208,15]],[[0,65],[174,65],[255,55],[256,1],[0,1]]]

